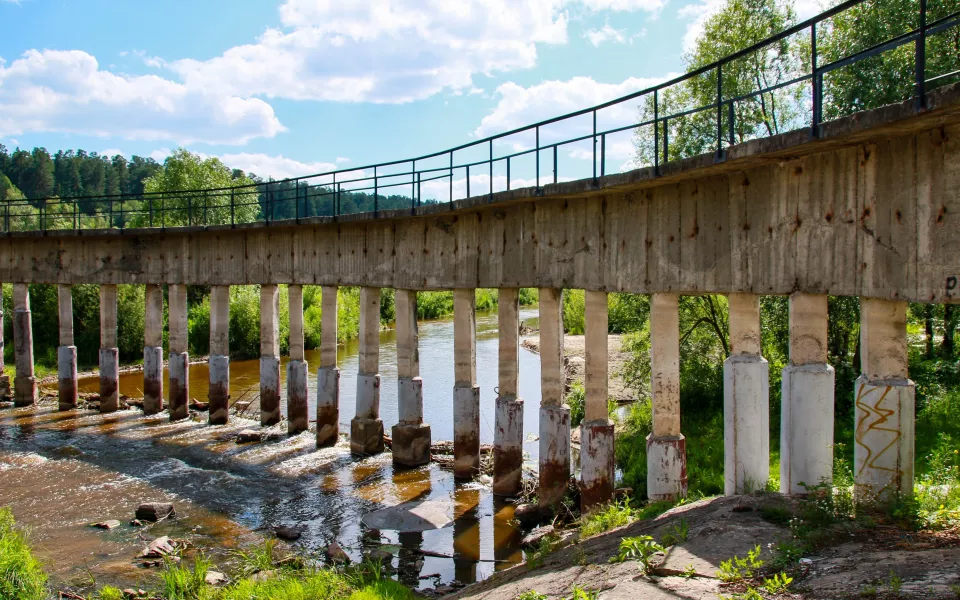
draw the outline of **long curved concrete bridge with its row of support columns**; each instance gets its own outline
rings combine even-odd
[[[790,364],[783,371],[780,489],[830,481],[834,370],[827,362],[827,296],[861,301],[856,385],[856,490],[913,486],[914,384],[908,379],[907,302],[960,301],[960,86],[809,130],[730,146],[658,168],[472,198],[413,211],[165,229],[10,233],[0,281],[14,284],[17,405],[37,395],[27,285],[60,286],[60,407],[77,404],[70,286],[101,286],[100,410],[118,408],[117,284],[146,286],[144,410],[187,416],[187,285],[211,287],[211,425],[228,419],[229,286],[261,285],[261,422],[280,419],[278,284],[290,286],[290,433],[307,429],[303,285],[321,285],[317,444],[339,426],[337,286],[361,286],[356,453],[383,450],[379,419],[379,288],[396,289],[400,423],[393,460],[430,460],[417,351],[416,292],[452,289],[455,303],[455,472],[478,467],[479,388],[474,290],[498,288],[499,397],[494,491],[521,477],[518,290],[540,290],[540,503],[570,477],[563,403],[562,290],[586,290],[583,502],[612,498],[614,429],[607,415],[607,294],[651,294],[651,499],[686,493],[680,420],[678,296],[726,294],[731,356],[724,365],[726,492],[763,488],[769,470],[768,364],[759,297],[790,296]],[[412,214],[411,214],[412,212]],[[169,294],[169,380],[163,381],[163,288]],[[0,354],[2,356],[2,354]],[[429,377],[429,372],[424,375]],[[169,406],[162,389],[168,386]],[[9,385],[9,384],[8,384]]]

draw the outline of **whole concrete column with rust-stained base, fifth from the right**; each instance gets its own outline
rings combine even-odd
[[[607,294],[584,295],[586,407],[580,426],[580,505],[583,513],[613,500],[616,477],[613,421],[607,410]]]

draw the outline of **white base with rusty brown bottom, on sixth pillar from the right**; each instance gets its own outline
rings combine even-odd
[[[541,509],[552,510],[563,500],[570,481],[570,407],[540,407]]]

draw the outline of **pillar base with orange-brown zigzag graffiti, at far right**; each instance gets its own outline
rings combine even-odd
[[[909,379],[870,381],[861,375],[854,390],[854,497],[882,504],[913,494],[916,385]]]

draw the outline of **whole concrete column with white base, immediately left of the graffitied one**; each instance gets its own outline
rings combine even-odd
[[[783,369],[780,491],[833,481],[833,367],[827,364],[827,297],[790,296],[790,364]]]

